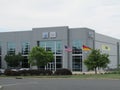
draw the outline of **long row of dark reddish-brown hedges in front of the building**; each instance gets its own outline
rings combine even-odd
[[[21,71],[12,71],[10,69],[5,70],[4,72],[7,76],[29,76],[29,75],[72,75],[72,72],[68,69],[59,69],[54,73],[51,70],[21,70]]]

